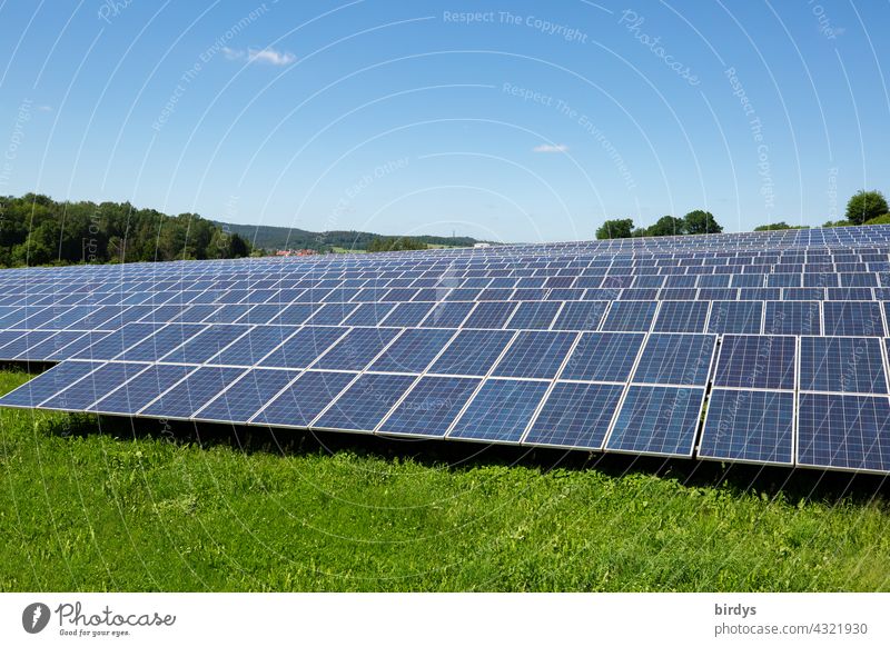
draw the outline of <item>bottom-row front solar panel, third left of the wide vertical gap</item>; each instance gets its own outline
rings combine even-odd
[[[488,379],[448,438],[518,442],[547,390],[547,382]]]

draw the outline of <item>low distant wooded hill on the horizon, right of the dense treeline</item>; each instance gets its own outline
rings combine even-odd
[[[307,231],[305,229],[291,229],[290,227],[233,225],[218,221],[214,221],[214,225],[231,233],[239,235],[256,248],[266,250],[315,249],[318,251],[330,251],[335,247],[364,250],[367,249],[372,240],[384,238],[380,233],[370,233],[367,231]],[[473,245],[478,242],[475,238],[469,238],[467,236],[458,236],[455,238],[447,236],[412,236],[411,238],[432,246],[447,247],[473,247]]]

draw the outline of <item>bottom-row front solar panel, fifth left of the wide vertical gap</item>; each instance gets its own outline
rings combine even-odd
[[[415,379],[404,375],[365,374],[337,398],[313,427],[373,431]]]

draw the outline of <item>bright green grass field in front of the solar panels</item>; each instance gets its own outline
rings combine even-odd
[[[0,410],[0,590],[890,589],[873,477],[253,434]]]

